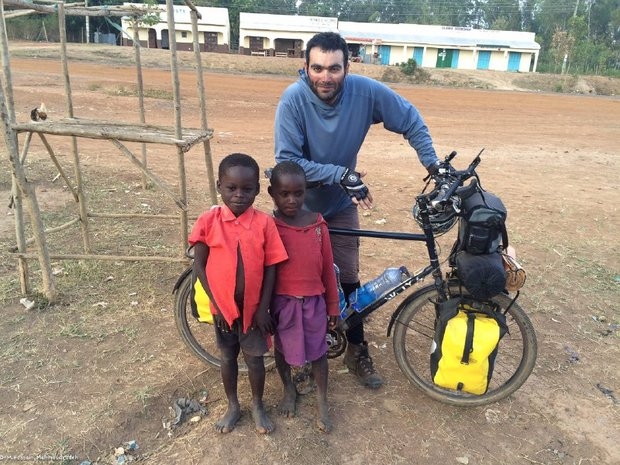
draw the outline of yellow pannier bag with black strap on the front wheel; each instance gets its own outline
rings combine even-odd
[[[431,353],[433,382],[455,391],[484,394],[499,341],[508,332],[506,317],[487,304],[474,308],[454,300],[460,299],[440,304]]]

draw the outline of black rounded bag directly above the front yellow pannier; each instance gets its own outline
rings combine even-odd
[[[461,250],[456,254],[456,269],[461,283],[475,299],[492,299],[506,286],[500,253],[474,255]]]

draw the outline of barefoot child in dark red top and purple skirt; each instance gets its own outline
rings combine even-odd
[[[276,332],[275,359],[284,384],[278,405],[284,416],[294,416],[297,390],[291,366],[312,362],[317,385],[317,427],[329,432],[327,404],[327,326],[335,328],[339,315],[338,287],[327,223],[319,213],[302,210],[306,176],[297,163],[276,165],[268,188],[276,209],[276,226],[289,259],[277,265],[271,301]]]

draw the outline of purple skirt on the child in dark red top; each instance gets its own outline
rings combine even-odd
[[[276,323],[274,347],[290,366],[303,366],[327,353],[327,307],[322,295],[276,295],[271,314]]]

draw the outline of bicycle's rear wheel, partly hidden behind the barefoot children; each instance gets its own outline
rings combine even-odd
[[[220,351],[215,341],[213,324],[202,323],[192,314],[190,305],[192,278],[189,273],[178,286],[174,299],[174,322],[181,335],[181,339],[192,353],[203,362],[219,367],[221,365]],[[273,349],[264,357],[265,369],[275,366]],[[243,355],[239,354],[239,371],[247,372]]]

